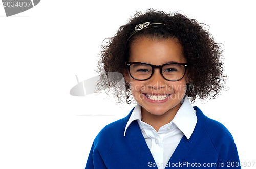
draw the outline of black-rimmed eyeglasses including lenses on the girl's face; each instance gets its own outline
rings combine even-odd
[[[160,73],[165,80],[179,81],[186,73],[187,63],[166,63],[163,65],[151,65],[143,62],[125,62],[129,74],[135,80],[148,80],[152,77],[155,68],[160,69]]]

